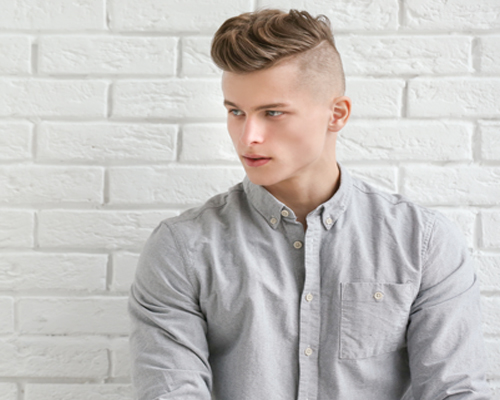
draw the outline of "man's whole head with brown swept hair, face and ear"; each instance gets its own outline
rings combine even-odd
[[[252,182],[271,190],[336,171],[350,99],[326,17],[262,10],[230,18],[212,58],[224,71],[228,131]]]

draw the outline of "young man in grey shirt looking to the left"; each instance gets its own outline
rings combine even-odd
[[[325,17],[227,20],[212,57],[244,181],[163,221],[130,297],[140,400],[488,398],[478,283],[441,214],[351,177]]]

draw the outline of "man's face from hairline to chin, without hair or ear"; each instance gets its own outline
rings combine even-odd
[[[317,179],[332,157],[335,160],[336,132],[328,129],[333,96],[314,96],[298,77],[293,62],[248,74],[223,74],[228,131],[249,179],[257,185],[300,185]]]

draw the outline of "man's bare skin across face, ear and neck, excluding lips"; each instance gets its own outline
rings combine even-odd
[[[307,214],[338,189],[335,144],[351,100],[338,91],[318,95],[321,88],[304,85],[301,76],[293,59],[246,74],[226,71],[222,91],[229,135],[249,179],[290,207],[307,229]],[[248,166],[249,154],[270,160]]]

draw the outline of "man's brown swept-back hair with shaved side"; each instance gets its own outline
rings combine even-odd
[[[298,61],[301,83],[345,91],[342,61],[325,15],[264,9],[229,18],[215,33],[210,55],[220,69],[238,74]]]

